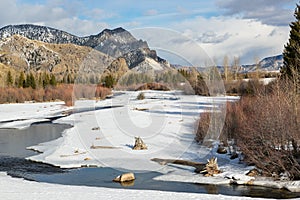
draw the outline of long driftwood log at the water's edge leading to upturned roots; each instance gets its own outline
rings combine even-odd
[[[166,164],[176,164],[176,165],[185,165],[195,167],[195,172],[200,173],[201,171],[205,170],[206,163],[194,162],[189,160],[179,160],[179,159],[161,159],[161,158],[152,158],[154,162],[157,162],[161,165]]]

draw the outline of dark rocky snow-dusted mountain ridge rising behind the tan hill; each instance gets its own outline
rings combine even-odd
[[[21,35],[31,40],[54,44],[76,44],[96,49],[108,56],[125,57],[130,69],[151,58],[169,67],[166,60],[150,50],[146,41],[137,40],[123,28],[105,29],[97,35],[78,37],[58,29],[31,24],[9,25],[0,29],[0,39]],[[143,52],[143,53],[141,53]]]

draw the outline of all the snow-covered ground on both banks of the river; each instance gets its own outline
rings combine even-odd
[[[215,149],[200,146],[194,141],[199,114],[205,111],[218,112],[227,101],[235,101],[237,97],[201,97],[182,95],[176,91],[143,92],[143,100],[137,100],[140,92],[115,92],[113,98],[103,101],[81,100],[69,108],[62,102],[0,105],[0,127],[26,128],[33,122],[61,117],[54,122],[71,124],[73,127],[57,140],[28,147],[42,153],[27,159],[62,168],[98,166],[135,173],[155,171],[163,174],[155,177],[155,180],[215,185],[229,184],[233,180],[238,184],[252,181],[255,185],[299,190],[299,182],[254,180],[245,175],[251,168],[239,164],[238,159],[230,160],[228,155],[217,154]],[[70,110],[75,113],[64,116]],[[132,150],[136,136],[144,140],[147,150]],[[223,173],[209,178],[195,174],[191,167],[162,166],[151,161],[152,158],[166,158],[206,162],[207,158],[213,156],[218,158]],[[155,199],[241,198],[51,185],[13,179],[5,174],[0,176],[0,185],[1,194],[8,197],[5,199],[18,199],[17,194],[21,193],[25,193],[28,199],[47,193],[47,199],[51,199],[57,196],[57,191],[64,199],[117,199],[124,195],[130,199],[153,199],[153,196]],[[30,190],[26,189],[29,187]]]

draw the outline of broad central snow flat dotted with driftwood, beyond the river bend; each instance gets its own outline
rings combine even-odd
[[[164,168],[152,162],[152,158],[202,157],[205,162],[210,151],[199,152],[201,149],[194,142],[195,122],[199,114],[218,109],[227,100],[237,99],[182,95],[175,91],[144,91],[146,98],[137,100],[139,93],[123,92],[98,102],[79,101],[75,105],[77,110],[89,106],[114,108],[80,112],[57,120],[56,123],[73,120],[74,127],[65,131],[63,140],[58,139],[60,142],[48,142],[46,149],[45,144],[29,147],[44,152],[29,159],[62,168],[108,166],[132,171]],[[148,150],[132,150],[136,136],[144,140]],[[99,148],[91,149],[91,146]]]

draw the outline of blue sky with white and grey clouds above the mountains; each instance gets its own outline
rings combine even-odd
[[[0,27],[37,24],[78,36],[123,27],[138,39],[154,41],[135,31],[145,33],[151,27],[156,33],[167,30],[190,40],[217,64],[222,64],[225,56],[229,62],[238,58],[241,64],[251,64],[282,53],[289,38],[289,24],[295,20],[297,3],[297,0],[0,0]],[[168,39],[154,35],[158,44]],[[151,41],[148,44],[157,47]],[[168,52],[166,45],[162,46]],[[164,55],[176,62],[171,55]]]

